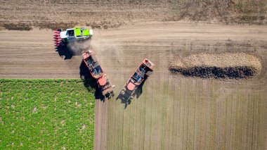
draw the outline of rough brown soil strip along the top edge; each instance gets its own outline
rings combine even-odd
[[[87,25],[118,27],[148,21],[267,24],[267,2],[250,0],[0,0],[0,26],[11,30]]]

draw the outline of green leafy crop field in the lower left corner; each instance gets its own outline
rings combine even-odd
[[[0,80],[0,149],[93,149],[94,114],[82,80]]]

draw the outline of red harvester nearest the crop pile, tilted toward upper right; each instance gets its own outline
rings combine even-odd
[[[152,74],[153,67],[154,64],[145,58],[133,75],[131,75],[126,85],[124,85],[124,89],[122,89],[117,99],[120,98],[124,100],[126,104],[129,103],[129,100],[136,95],[136,89],[138,89],[138,87],[145,82],[146,78]]]

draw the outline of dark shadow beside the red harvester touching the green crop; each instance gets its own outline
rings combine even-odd
[[[79,74],[84,82],[84,87],[86,87],[89,92],[92,92],[92,90],[95,89],[95,98],[105,102],[105,96],[102,94],[101,89],[98,88],[96,79],[93,78],[84,61],[82,61],[81,65],[79,66]]]

